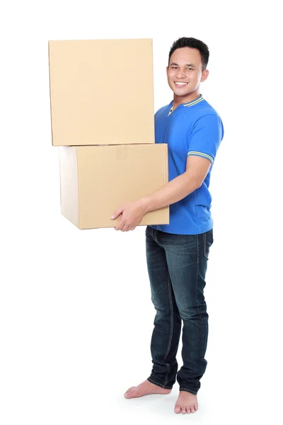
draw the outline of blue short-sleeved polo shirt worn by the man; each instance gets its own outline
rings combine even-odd
[[[185,172],[188,155],[207,158],[212,165],[200,188],[170,205],[170,224],[151,227],[173,234],[200,234],[213,227],[209,181],[224,128],[218,113],[202,95],[181,103],[174,111],[172,108],[173,101],[154,116],[155,142],[168,144],[169,181]]]

